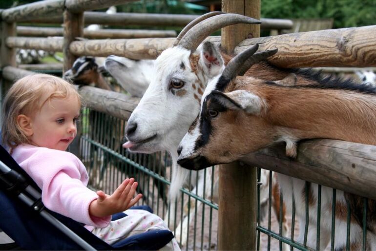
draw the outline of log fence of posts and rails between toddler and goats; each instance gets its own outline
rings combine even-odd
[[[27,74],[32,74],[32,72],[16,67],[16,48],[63,51],[64,70],[70,68],[78,56],[83,55],[108,56],[113,54],[132,59],[153,59],[167,47],[170,47],[174,38],[84,41],[76,41],[76,38],[85,36],[89,37],[88,33],[85,34],[84,23],[118,24],[123,22],[127,24],[150,25],[152,23],[153,25],[161,26],[180,26],[187,24],[195,18],[195,16],[192,15],[139,15],[123,13],[109,17],[102,13],[84,12],[85,10],[89,10],[88,6],[91,10],[106,8],[129,1],[130,0],[44,0],[2,10],[0,12],[0,66],[2,67],[1,87],[3,91],[6,90],[16,79]],[[234,1],[230,3],[228,0],[223,0],[222,6],[224,7],[224,10],[228,12],[249,14],[255,18],[260,16],[259,0],[250,1],[252,4],[249,6],[244,4],[243,6],[246,6],[246,8],[242,10],[237,9],[237,6],[234,5],[233,2]],[[251,13],[251,9],[253,13]],[[261,25],[261,28],[291,28],[291,22],[289,21],[261,20],[264,23]],[[16,36],[17,32],[26,36],[25,28],[17,27],[16,25],[16,22],[25,21],[52,23],[63,22],[63,38],[42,38],[42,36],[47,35],[47,29],[39,30],[37,33],[34,33],[40,36],[38,38]],[[242,42],[236,47],[234,44],[239,41],[232,41],[229,39],[229,37],[231,37],[229,28],[223,30],[222,40],[221,37],[210,37],[209,40],[214,43],[222,42],[229,51],[234,49],[235,54],[248,48],[254,43],[260,44],[260,50],[278,48],[278,53],[271,57],[270,62],[277,66],[287,68],[376,66],[376,25],[257,38],[259,28],[259,26],[250,26],[249,30],[252,30],[254,38],[244,39],[247,34],[242,34],[240,36],[240,41]],[[61,29],[54,30],[53,32],[58,32],[55,34],[59,35],[62,34]],[[28,32],[27,36],[30,35],[32,35],[31,30]],[[239,40],[239,38],[237,39]],[[136,107],[139,101],[137,98],[130,98],[121,93],[114,93],[89,86],[81,87],[79,92],[88,107],[125,120],[129,118],[132,110]],[[108,97],[111,97],[111,99]],[[105,102],[98,102],[100,100]],[[111,100],[111,103],[109,103],[109,100]],[[348,142],[344,143],[334,140],[313,140],[300,144],[298,150],[298,158],[295,161],[287,159],[282,148],[276,146],[270,148],[268,151],[251,153],[242,159],[242,162],[252,166],[260,166],[269,170],[275,170],[295,178],[308,180],[317,184],[338,188],[357,195],[376,199],[375,193],[372,192],[376,188],[376,170],[374,168],[376,166],[376,146]],[[321,157],[328,151],[331,152],[334,156],[333,158],[335,158],[333,163],[341,165],[333,165],[327,161],[320,161]],[[304,154],[301,154],[303,152]],[[240,164],[236,165],[237,168],[239,168],[239,165]],[[222,176],[223,175],[224,173]],[[230,175],[236,174],[232,171]],[[242,183],[237,186],[245,186],[246,182],[249,183],[249,180],[247,180],[249,177],[251,177],[251,180],[256,181],[254,173],[251,174],[251,176],[245,177],[247,178],[241,179]],[[233,184],[230,184],[229,186],[232,185]],[[252,187],[255,187],[255,183]],[[229,191],[229,189],[224,186],[221,186],[220,189],[222,189],[220,190],[220,193],[222,194],[224,194],[224,189]],[[251,191],[250,194],[254,195],[255,193],[254,191]],[[231,194],[227,194],[227,196],[231,197]],[[235,202],[233,206],[240,207],[239,211],[243,212],[243,214],[249,213],[249,206],[247,206],[247,209],[244,209],[244,205],[239,201]],[[253,215],[255,215],[256,205],[252,204],[251,208]],[[242,219],[240,218],[241,215],[227,212],[226,209],[228,208],[226,208],[225,205],[220,204],[220,210],[221,209],[223,209],[223,215],[232,215],[232,221],[242,222]],[[220,230],[218,242],[220,244],[218,249],[254,250],[255,242],[252,241],[254,239],[253,237],[250,238],[250,235],[248,234],[235,236],[236,233],[240,231],[246,233],[255,232],[255,217],[253,217],[253,219],[251,230],[245,230],[245,226],[242,225],[232,226],[229,221],[223,219],[223,224],[219,225]],[[254,234],[251,236],[254,236]],[[245,240],[244,237],[247,240]]]

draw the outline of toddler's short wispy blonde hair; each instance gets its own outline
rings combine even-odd
[[[14,148],[29,144],[29,139],[18,125],[20,114],[33,116],[46,101],[55,98],[77,97],[81,106],[80,94],[72,84],[48,74],[33,74],[14,83],[5,95],[2,105],[1,144]]]

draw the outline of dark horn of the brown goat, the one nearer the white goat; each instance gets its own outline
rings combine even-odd
[[[238,75],[239,70],[243,68],[243,63],[247,61],[247,59],[249,59],[257,51],[257,49],[258,43],[232,58],[223,70],[222,77],[228,80],[235,78]]]

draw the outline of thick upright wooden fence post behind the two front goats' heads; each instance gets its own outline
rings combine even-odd
[[[222,0],[222,11],[260,19],[260,0]],[[259,37],[259,25],[222,28],[227,53],[246,38]],[[234,162],[219,167],[218,250],[256,249],[257,168]]]

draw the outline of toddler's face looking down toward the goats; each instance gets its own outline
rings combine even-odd
[[[51,99],[31,120],[32,144],[65,151],[77,134],[80,105],[76,97]]]

